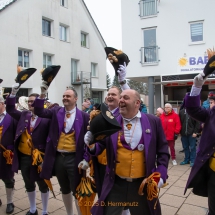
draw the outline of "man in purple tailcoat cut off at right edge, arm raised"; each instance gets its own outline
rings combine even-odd
[[[214,62],[213,62],[214,63]],[[200,106],[200,92],[205,82],[205,74],[202,72],[193,80],[190,94],[184,99],[187,113],[194,119],[204,123],[199,148],[195,163],[191,169],[185,192],[193,188],[193,193],[208,197],[208,215],[215,214],[215,95],[211,95],[210,109]]]

